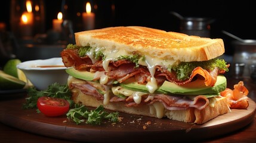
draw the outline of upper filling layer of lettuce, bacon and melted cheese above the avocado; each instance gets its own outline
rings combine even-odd
[[[170,58],[167,60],[153,58],[150,55],[138,55],[135,51],[128,53],[125,49],[106,50],[72,44],[67,45],[61,57],[67,67],[97,72],[96,75],[100,77],[102,84],[113,80],[122,83],[134,76],[138,83],[147,83],[147,89],[151,94],[165,80],[184,85],[198,74],[205,78],[206,86],[214,86],[218,74],[229,70],[229,64],[217,58],[209,61],[180,62]],[[95,79],[98,80],[99,77]]]

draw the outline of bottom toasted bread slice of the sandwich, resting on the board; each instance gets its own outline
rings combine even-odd
[[[104,105],[103,100],[97,100],[91,95],[85,95],[78,88],[73,88],[71,91],[73,93],[73,101],[76,104],[83,104],[88,107],[98,107],[99,105],[103,105],[104,108],[108,110],[149,117],[159,117],[158,114],[164,114],[164,117],[168,117],[168,119],[187,123],[202,124],[208,122],[211,119],[214,119],[217,116],[220,116],[221,114],[225,114],[230,110],[226,97],[215,98],[203,110],[198,110],[196,108],[188,108],[187,110],[164,109],[164,112],[161,113],[159,112],[159,110],[156,110],[157,108],[164,108],[164,106],[161,105],[156,107],[153,107],[152,105],[138,105],[136,107],[127,107],[125,106],[124,102],[109,102],[109,104]],[[162,103],[159,102],[159,104]]]

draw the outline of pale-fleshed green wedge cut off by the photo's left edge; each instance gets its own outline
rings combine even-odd
[[[11,90],[11,89],[22,89],[26,85],[26,82],[19,80],[17,77],[11,76],[0,71],[0,89]]]

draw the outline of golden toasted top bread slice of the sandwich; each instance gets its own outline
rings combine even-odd
[[[76,45],[125,49],[175,61],[207,61],[224,53],[222,39],[201,38],[140,26],[107,27],[75,33]]]

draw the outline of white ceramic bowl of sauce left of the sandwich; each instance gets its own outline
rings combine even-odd
[[[52,83],[67,83],[67,67],[64,67],[61,58],[49,58],[46,60],[24,61],[17,68],[26,74],[27,78],[38,90],[48,89]]]

